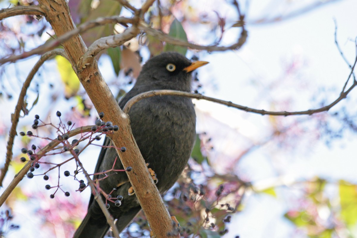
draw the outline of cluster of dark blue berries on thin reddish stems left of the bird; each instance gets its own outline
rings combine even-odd
[[[60,167],[62,165],[64,165],[65,163],[74,160],[76,162],[76,169],[74,171],[73,174],[70,173],[70,171],[66,170],[64,171],[64,176],[65,177],[69,177],[72,176],[74,177],[74,180],[77,181],[79,183],[79,188],[77,189],[77,191],[83,191],[86,187],[88,187],[88,184],[86,184],[84,182],[84,180],[82,179],[78,179],[78,174],[80,172],[86,173],[86,171],[84,170],[84,168],[81,165],[81,162],[79,160],[79,155],[80,153],[87,147],[89,146],[93,141],[97,141],[101,139],[101,136],[104,134],[109,134],[109,133],[113,133],[115,131],[119,130],[119,127],[116,125],[112,125],[112,122],[104,122],[102,121],[102,118],[104,117],[104,113],[101,112],[99,113],[99,119],[96,120],[95,122],[95,126],[91,127],[90,131],[87,132],[81,132],[80,133],[80,138],[78,139],[74,139],[71,142],[70,137],[73,136],[73,129],[74,129],[74,123],[72,123],[72,121],[67,121],[66,123],[63,123],[61,120],[61,112],[57,111],[56,112],[56,116],[59,117],[60,123],[58,125],[53,125],[52,123],[45,123],[43,121],[40,120],[40,117],[38,115],[35,115],[35,120],[34,120],[34,124],[32,125],[32,128],[34,130],[37,131],[37,129],[39,127],[43,127],[43,126],[52,126],[57,130],[57,141],[60,142],[59,146],[55,147],[55,148],[40,148],[37,147],[35,145],[31,146],[30,150],[27,150],[27,148],[22,148],[21,152],[26,154],[27,157],[29,159],[26,159],[26,157],[21,157],[20,161],[21,162],[26,162],[26,161],[31,161],[31,167],[29,169],[29,172],[27,173],[27,177],[28,178],[33,178],[34,176],[40,176],[43,175],[43,179],[45,181],[48,181],[50,179],[49,173],[54,170],[54,169],[58,169],[58,179],[57,179],[57,185],[55,186],[51,186],[50,184],[46,184],[45,188],[47,190],[50,189],[55,189],[55,191],[53,193],[51,193],[50,198],[54,198],[55,194],[57,191],[62,191],[64,193],[65,196],[70,196],[70,193],[68,191],[64,191],[60,185]],[[41,122],[41,123],[40,123]],[[38,132],[36,133],[36,135],[34,135],[33,132],[28,131],[27,133],[25,132],[20,132],[19,133],[21,136],[30,136],[30,137],[37,137],[40,139],[46,139],[49,141],[53,141],[50,138],[44,138],[38,135]],[[95,135],[97,134],[97,135]],[[78,146],[81,144],[84,144],[84,142],[86,141],[86,145],[81,145],[82,148],[79,148]],[[87,142],[88,141],[88,142]],[[59,152],[53,152],[56,150],[60,150]],[[120,148],[121,152],[125,152],[126,148],[125,147],[121,147]],[[58,154],[62,154],[62,153],[68,153],[70,152],[70,155],[72,157],[70,157],[69,159],[66,159],[65,161],[61,162],[61,163],[52,163],[52,162],[48,162],[48,161],[43,161],[43,159],[40,158],[44,157],[44,156],[49,156],[49,155],[58,155]],[[116,162],[116,160],[115,160]],[[106,175],[106,173],[110,172],[110,171],[131,171],[131,167],[128,167],[126,169],[114,169],[115,166],[115,162],[113,164],[113,167],[107,171],[102,171],[99,174],[104,174]],[[47,167],[49,167],[44,173],[40,173],[40,174],[34,174],[33,172],[35,171],[35,169],[40,167],[40,164],[46,164]],[[87,173],[86,173],[87,174]],[[96,175],[96,174],[88,174],[88,175]],[[101,179],[105,179],[106,176],[104,178]],[[121,200],[122,197],[118,196],[117,198],[111,198],[110,194],[105,194],[104,191],[102,191],[99,188],[99,192],[101,192],[105,197],[106,197],[106,206],[109,206],[109,204],[107,203],[108,201],[113,202],[115,204],[115,206],[120,206],[121,205]]]

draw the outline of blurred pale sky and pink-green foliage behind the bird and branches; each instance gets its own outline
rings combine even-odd
[[[138,8],[142,4],[129,2]],[[37,4],[0,2],[1,8]],[[99,16],[131,16],[113,0],[70,0],[69,5],[77,25]],[[156,1],[147,22],[200,45],[235,43],[242,30],[240,12],[248,31],[246,43],[239,50],[206,52],[174,47],[142,34],[125,46],[102,52],[99,67],[119,99],[150,56],[175,50],[188,59],[210,62],[194,72],[193,91],[267,111],[316,109],[335,101],[349,79],[356,59],[356,9],[355,0]],[[107,25],[81,36],[89,46],[99,37],[123,30],[121,25]],[[50,41],[50,35],[54,32],[43,18],[1,20],[0,56],[29,51]],[[0,66],[1,163],[11,113],[38,59],[32,56]],[[346,89],[353,80],[354,75]],[[180,222],[182,237],[357,237],[356,97],[354,89],[328,112],[286,117],[194,100],[197,141],[192,159],[164,196]],[[97,118],[71,65],[60,56],[40,67],[25,100],[17,133],[32,131],[39,137],[15,137],[1,192],[24,166],[20,158],[29,159],[21,148],[44,147],[49,142],[45,138],[57,137],[60,120],[80,127],[93,125]],[[56,111],[62,113],[60,118]],[[35,115],[43,122],[37,130],[31,128]],[[89,173],[94,171],[102,141],[93,144],[80,154]],[[90,191],[77,191],[78,181],[85,178],[82,174],[74,178],[73,160],[50,170],[71,158],[59,152],[42,158],[34,178],[24,178],[0,208],[3,237],[71,237],[80,224]],[[71,175],[64,176],[64,171]],[[54,188],[47,190],[46,184]],[[148,230],[141,215],[121,236],[149,237]]]

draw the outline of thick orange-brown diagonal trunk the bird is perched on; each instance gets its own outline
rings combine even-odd
[[[60,37],[75,28],[66,1],[39,0],[39,2],[48,9],[46,19],[57,36]],[[85,65],[84,69],[77,67],[87,50],[81,37],[76,35],[62,45],[97,112],[104,112],[105,121],[111,121],[120,127],[120,132],[112,134],[111,139],[116,148],[122,146],[127,148],[125,153],[117,152],[121,155],[120,160],[124,168],[132,167],[132,171],[127,172],[127,175],[154,236],[167,237],[167,233],[172,229],[171,218],[132,136],[129,118],[120,110],[115,97],[98,70],[96,60]]]

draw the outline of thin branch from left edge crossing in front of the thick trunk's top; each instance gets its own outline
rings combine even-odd
[[[114,24],[114,23],[127,24],[127,23],[132,23],[132,19],[127,18],[127,17],[119,17],[119,16],[99,17],[96,20],[89,21],[89,22],[86,22],[86,23],[80,25],[76,29],[73,29],[73,30],[67,32],[66,34],[58,37],[56,40],[46,42],[45,44],[40,45],[39,47],[37,47],[33,50],[23,52],[20,55],[11,55],[7,58],[2,58],[2,59],[0,59],[0,65],[4,64],[6,62],[9,62],[9,61],[16,61],[19,59],[24,59],[31,55],[43,54],[44,52],[52,50],[55,47],[61,45],[61,43],[71,39],[71,37],[73,37],[77,34],[85,32],[85,31],[87,31],[91,28],[94,28],[96,26],[101,26],[101,25],[110,24],[110,23],[111,24]]]

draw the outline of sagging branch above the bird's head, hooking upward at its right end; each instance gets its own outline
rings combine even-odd
[[[174,45],[186,46],[186,47],[189,47],[194,50],[207,50],[210,52],[211,51],[226,51],[226,50],[239,49],[245,43],[246,38],[247,38],[247,31],[245,29],[242,29],[240,38],[233,45],[230,45],[230,46],[215,46],[215,45],[203,46],[203,45],[196,45],[196,44],[192,44],[192,43],[189,43],[186,41],[174,39],[169,35],[166,35],[158,30],[155,30],[155,29],[147,26],[147,24],[144,21],[140,21],[140,24],[138,27],[140,30],[145,31],[146,34],[154,36],[161,41],[165,41],[167,43],[174,44]]]

